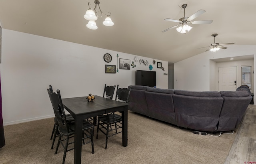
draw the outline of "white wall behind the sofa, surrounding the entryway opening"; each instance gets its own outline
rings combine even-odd
[[[220,49],[215,53],[207,51],[174,63],[174,89],[189,91],[213,90],[214,84],[210,80],[212,81],[212,78],[214,80],[216,77],[210,78],[211,73],[214,73],[212,71],[214,62],[210,62],[210,59],[256,55],[256,45],[227,45],[227,47],[227,49]],[[254,57],[254,64],[255,60],[256,58]],[[255,78],[255,73],[253,75]],[[211,76],[216,76],[216,73]]]

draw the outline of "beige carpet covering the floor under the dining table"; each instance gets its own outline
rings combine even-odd
[[[6,145],[0,148],[0,164],[60,164],[63,148],[58,154],[51,150],[53,118],[4,126]],[[122,134],[109,138],[94,136],[91,145],[82,146],[83,164],[223,164],[236,133],[220,137],[193,134],[128,111],[128,146],[122,146]],[[65,164],[74,163],[74,150],[67,152]]]

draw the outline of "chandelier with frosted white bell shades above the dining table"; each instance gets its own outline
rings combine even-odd
[[[96,25],[95,20],[98,18],[102,18],[103,15],[107,16],[106,19],[103,21],[103,24],[105,26],[113,26],[114,22],[112,22],[111,18],[109,17],[111,15],[111,12],[108,12],[108,14],[105,14],[100,9],[100,1],[94,0],[95,7],[92,9],[90,7],[90,2],[88,2],[89,9],[86,11],[86,14],[84,15],[84,19],[89,20],[88,24],[86,24],[87,28],[90,28],[92,30],[96,30],[98,27]],[[97,5],[99,7],[99,11],[97,12]]]

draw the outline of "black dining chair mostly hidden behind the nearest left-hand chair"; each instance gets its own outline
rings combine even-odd
[[[49,89],[47,89],[47,91],[50,92],[50,93],[53,93],[52,85],[49,85]],[[67,120],[67,122],[72,122],[72,121],[74,121],[74,118],[70,114],[68,114],[68,115],[66,115],[66,120]],[[53,129],[52,129],[52,135],[51,135],[51,138],[50,138],[50,140],[52,140],[51,149],[53,149],[56,136],[59,135],[58,126],[59,126],[59,124],[58,124],[57,118],[54,117],[54,126],[53,126]]]

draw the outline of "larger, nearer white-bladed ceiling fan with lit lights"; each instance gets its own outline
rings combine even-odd
[[[162,32],[166,32],[172,28],[176,28],[178,27],[176,30],[182,34],[186,34],[186,31],[189,32],[192,27],[188,26],[188,24],[211,24],[212,20],[194,20],[196,17],[200,16],[201,14],[203,14],[204,12],[206,12],[205,10],[198,10],[195,14],[193,14],[190,17],[186,17],[185,16],[185,8],[187,7],[187,4],[183,4],[181,7],[184,8],[184,17],[180,18],[179,20],[174,20],[174,19],[170,19],[170,18],[166,18],[164,20],[167,21],[171,21],[171,22],[177,22],[179,24],[172,26]]]

